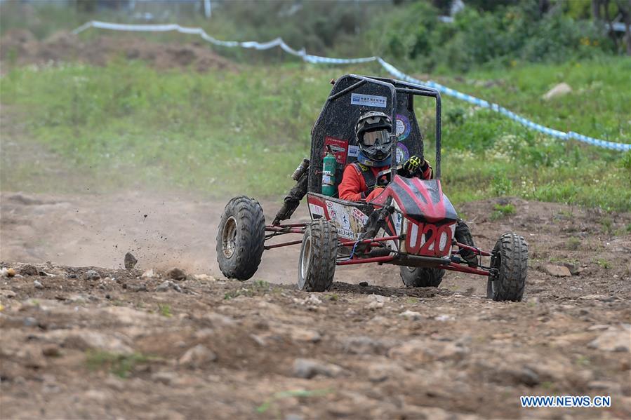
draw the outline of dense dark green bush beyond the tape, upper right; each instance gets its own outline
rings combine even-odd
[[[510,2],[509,2],[510,3]],[[561,8],[540,15],[538,1],[500,4],[492,11],[465,7],[453,23],[420,2],[395,11],[370,34],[376,52],[407,60],[424,72],[466,72],[481,65],[565,62],[611,52],[611,41],[591,21],[576,22]]]

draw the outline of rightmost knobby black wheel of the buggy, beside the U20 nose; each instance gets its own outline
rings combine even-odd
[[[520,302],[528,272],[528,244],[523,236],[505,233],[491,252],[491,275],[486,297],[495,301]]]

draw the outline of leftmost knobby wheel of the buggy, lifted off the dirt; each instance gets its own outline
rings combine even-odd
[[[264,245],[263,208],[253,198],[232,198],[223,210],[217,233],[217,262],[223,275],[237,280],[254,276]]]

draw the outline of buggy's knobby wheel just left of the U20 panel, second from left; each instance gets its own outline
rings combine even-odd
[[[298,259],[298,289],[324,292],[333,284],[338,257],[336,226],[324,218],[307,225]]]

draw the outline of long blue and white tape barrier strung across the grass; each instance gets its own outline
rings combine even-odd
[[[512,119],[513,121],[517,121],[518,123],[523,124],[524,126],[531,128],[532,130],[539,131],[540,133],[544,133],[547,135],[551,135],[552,137],[557,137],[561,140],[578,140],[579,142],[584,142],[587,144],[592,144],[597,147],[604,147],[606,149],[613,149],[619,151],[627,151],[631,150],[631,144],[627,143],[616,143],[616,142],[608,142],[606,140],[599,140],[592,137],[587,137],[586,135],[573,133],[569,131],[565,133],[564,131],[554,130],[553,128],[548,128],[542,126],[538,123],[530,121],[523,116],[519,116],[514,112],[506,109],[505,107],[500,107],[498,104],[493,104],[491,102],[487,102],[485,100],[479,99],[479,97],[474,97],[471,95],[467,95],[466,93],[458,92],[458,90],[453,90],[446,86],[443,86],[434,81],[420,81],[418,79],[414,79],[412,76],[401,72],[401,70],[394,67],[389,62],[386,62],[381,57],[359,57],[359,58],[331,58],[331,57],[320,57],[319,55],[310,55],[307,54],[305,48],[301,50],[294,50],[290,46],[288,46],[285,41],[281,38],[272,39],[272,41],[268,42],[257,42],[257,41],[221,41],[219,39],[213,38],[206,34],[204,29],[201,28],[192,28],[192,27],[182,27],[177,24],[168,24],[168,25],[127,25],[122,23],[110,23],[110,22],[100,22],[98,20],[92,20],[91,22],[87,22],[84,25],[81,25],[77,29],[74,29],[74,34],[79,34],[79,32],[83,32],[88,28],[98,28],[98,29],[110,29],[114,31],[131,31],[131,32],[170,32],[177,31],[182,34],[192,34],[199,35],[202,39],[213,43],[217,46],[223,47],[241,47],[241,48],[253,48],[255,50],[269,50],[270,48],[279,47],[284,50],[286,53],[295,55],[296,57],[300,57],[306,62],[314,63],[314,64],[333,64],[333,65],[346,65],[346,64],[357,64],[363,62],[378,62],[381,67],[385,69],[386,72],[392,74],[392,76],[397,79],[401,79],[404,81],[409,81],[411,83],[417,83],[419,85],[427,86],[428,88],[434,88],[439,90],[440,93],[444,95],[453,96],[465,102],[469,102],[470,104],[474,104],[477,107],[488,108],[492,111],[499,112]]]

